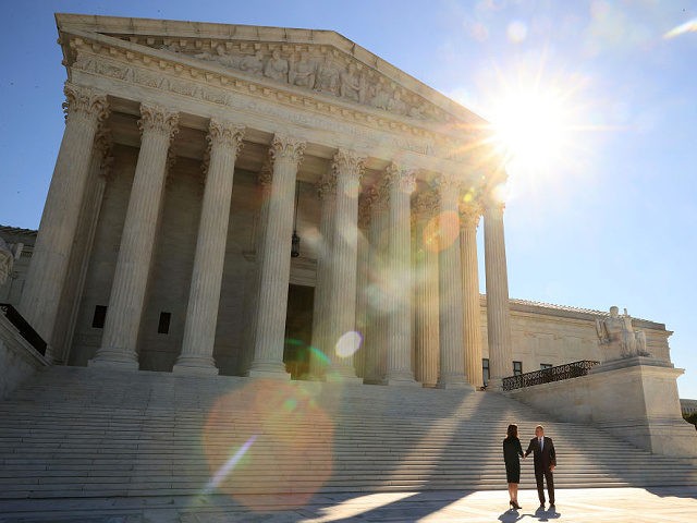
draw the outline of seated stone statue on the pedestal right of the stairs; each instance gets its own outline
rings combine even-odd
[[[607,357],[604,361],[619,360],[632,356],[649,356],[646,352],[646,333],[641,330],[634,330],[632,317],[624,309],[620,316],[616,306],[610,307],[610,315],[600,320],[596,319],[596,331],[598,332],[599,344],[604,346]]]

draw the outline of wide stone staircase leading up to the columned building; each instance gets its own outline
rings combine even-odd
[[[697,482],[695,461],[492,392],[52,367],[0,402],[0,498],[502,489],[509,423],[524,448],[545,425],[558,488]]]

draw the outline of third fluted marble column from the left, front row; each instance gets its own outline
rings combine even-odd
[[[198,224],[182,353],[175,374],[217,375],[213,361],[235,160],[244,126],[211,119],[210,160]]]

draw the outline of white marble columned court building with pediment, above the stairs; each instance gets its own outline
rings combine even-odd
[[[56,19],[64,135],[0,295],[54,363],[496,388],[599,358],[603,313],[509,300],[478,115],[329,31]]]

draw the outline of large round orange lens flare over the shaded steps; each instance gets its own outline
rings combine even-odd
[[[213,404],[203,429],[211,479],[205,494],[227,494],[252,510],[305,506],[333,467],[333,422],[299,382],[256,380]],[[231,455],[232,454],[232,455]]]

